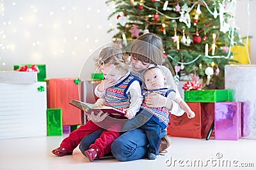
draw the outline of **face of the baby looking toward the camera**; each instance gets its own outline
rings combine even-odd
[[[159,68],[152,68],[144,74],[145,84],[148,90],[156,90],[164,88],[166,78]]]

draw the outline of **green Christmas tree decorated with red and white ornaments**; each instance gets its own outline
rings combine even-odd
[[[109,18],[118,20],[114,40],[153,32],[163,39],[164,55],[176,78],[199,76],[204,89],[224,87],[224,67],[233,45],[243,45],[234,26],[235,0],[112,0]],[[234,61],[233,61],[234,62]]]

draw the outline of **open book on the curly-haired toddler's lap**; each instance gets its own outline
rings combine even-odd
[[[109,106],[96,106],[95,104],[84,103],[82,101],[76,101],[76,100],[72,100],[69,104],[85,111],[88,114],[91,114],[91,112],[94,111],[94,114],[97,115],[100,111],[103,111],[104,113],[109,113],[109,117],[122,118],[122,119],[126,118],[124,117],[125,115],[124,111],[121,111]]]

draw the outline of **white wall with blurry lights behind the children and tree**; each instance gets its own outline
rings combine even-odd
[[[247,4],[250,4],[250,16]],[[104,0],[0,1],[0,70],[14,64],[46,64],[47,77],[77,77],[90,55],[111,43],[107,31],[115,19],[107,20],[112,6]],[[237,0],[236,24],[242,36],[256,37],[256,1]],[[251,39],[252,63],[256,63],[255,38]],[[94,53],[93,53],[94,52]],[[94,70],[88,59],[84,79]]]

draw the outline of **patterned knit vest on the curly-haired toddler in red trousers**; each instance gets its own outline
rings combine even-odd
[[[111,106],[118,110],[124,110],[130,106],[130,95],[127,94],[131,83],[133,81],[140,81],[138,78],[129,74],[123,81],[113,87],[106,89],[105,106]]]

